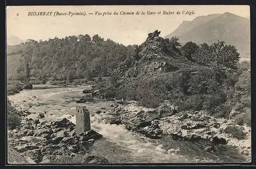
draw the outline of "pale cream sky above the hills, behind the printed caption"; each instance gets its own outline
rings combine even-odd
[[[114,12],[118,15],[113,15]],[[136,12],[140,14],[135,15]],[[141,12],[145,12],[144,15]],[[151,13],[147,14],[147,11]],[[163,11],[174,14],[163,14]],[[176,14],[180,11],[180,14]],[[185,15],[182,11],[194,14]],[[29,12],[81,13],[79,15],[29,16]],[[111,12],[111,15],[98,13]],[[134,15],[122,15],[123,12],[134,12]],[[155,14],[153,14],[155,12]],[[158,14],[158,12],[161,12]],[[48,40],[66,36],[98,34],[104,39],[110,38],[124,45],[141,44],[148,33],[161,31],[159,36],[172,33],[184,20],[193,20],[198,16],[230,12],[242,17],[250,17],[249,6],[9,6],[6,8],[6,31],[8,36],[17,36],[22,40]],[[90,14],[89,13],[93,13]]]

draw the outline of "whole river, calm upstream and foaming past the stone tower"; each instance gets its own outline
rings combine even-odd
[[[48,88],[20,91],[8,99],[15,106],[29,109],[28,118],[36,118],[45,112],[41,120],[58,120],[69,118],[75,123],[75,101],[83,96],[83,87]],[[108,159],[110,163],[187,163],[187,162],[245,162],[234,148],[220,146],[217,152],[206,152],[208,142],[190,142],[173,140],[170,136],[155,140],[138,133],[127,131],[122,125],[106,123],[105,116],[94,114],[97,110],[110,111],[113,101],[94,101],[79,105],[87,106],[91,113],[91,127],[103,135],[96,140],[92,152]]]

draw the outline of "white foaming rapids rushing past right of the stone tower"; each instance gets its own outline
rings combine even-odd
[[[157,140],[155,140],[156,142],[153,144],[150,141],[151,139],[127,131],[122,125],[105,124],[101,115],[95,114],[91,117],[91,125],[92,128],[102,134],[107,141],[115,143],[116,146],[120,148],[119,152],[116,153],[122,154],[121,151],[127,152],[125,156],[130,156],[131,162],[188,162],[184,156],[168,154],[168,152],[163,149],[163,144],[159,144]],[[100,144],[96,145],[99,146]],[[101,149],[104,149],[104,147],[101,147]]]

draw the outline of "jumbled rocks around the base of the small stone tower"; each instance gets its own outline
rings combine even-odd
[[[55,122],[40,122],[39,119],[30,119],[16,129],[10,131],[9,146],[30,157],[35,163],[54,163],[62,155],[83,156],[91,149],[101,134],[89,130],[76,134],[75,125],[67,118]],[[89,154],[90,155],[90,154]],[[97,157],[88,163],[108,162],[105,158]]]

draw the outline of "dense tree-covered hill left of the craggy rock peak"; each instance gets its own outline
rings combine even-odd
[[[16,79],[68,80],[111,76],[131,57],[136,45],[124,46],[98,35],[69,36],[46,41],[29,39],[22,47]]]

